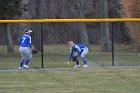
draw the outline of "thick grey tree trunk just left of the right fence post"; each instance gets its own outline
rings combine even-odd
[[[108,18],[107,0],[100,0],[100,18]],[[101,29],[101,51],[111,51],[111,41],[109,34],[109,25],[107,22],[100,24]]]

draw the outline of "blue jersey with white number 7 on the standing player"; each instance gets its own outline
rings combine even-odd
[[[31,37],[28,34],[21,36],[20,41],[19,41],[19,45],[20,45],[20,47],[32,48]]]

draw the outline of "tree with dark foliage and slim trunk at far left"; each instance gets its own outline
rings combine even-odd
[[[0,3],[0,19],[12,19],[16,16],[21,16],[24,11],[26,11],[26,5],[21,5],[22,0],[1,0]],[[7,51],[14,52],[13,40],[11,35],[10,24],[4,24],[5,28],[5,38],[7,42]]]

